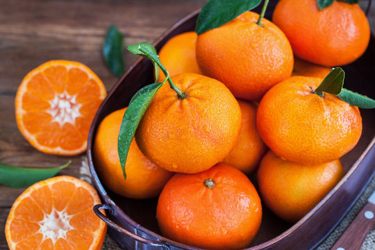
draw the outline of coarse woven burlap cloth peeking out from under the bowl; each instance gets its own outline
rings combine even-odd
[[[88,169],[88,163],[85,158],[83,158],[82,161],[82,167],[80,169],[81,179],[84,181],[92,182],[90,172]],[[342,219],[342,222],[338,224],[338,226],[335,228],[335,230],[332,231],[330,235],[322,242],[322,244],[319,245],[315,250],[326,250],[330,249],[336,240],[340,237],[342,232],[344,232],[345,228],[350,224],[350,222],[356,217],[356,215],[360,212],[360,210],[363,208],[365,203],[367,202],[367,199],[369,196],[374,192],[375,190],[375,178],[372,178],[372,181],[369,183],[363,194],[360,196],[358,201],[354,204],[354,206],[349,210],[349,213]],[[102,250],[120,250],[121,248],[117,245],[117,243],[112,240],[109,235],[106,235],[106,239],[104,240]],[[375,230],[372,230],[367,235],[367,238],[365,242],[363,243],[363,246],[361,247],[361,250],[369,250],[369,249],[375,249]],[[128,249],[133,250],[133,249]],[[297,249],[296,249],[297,250]],[[298,249],[302,250],[302,249]],[[350,249],[347,249],[350,250]]]

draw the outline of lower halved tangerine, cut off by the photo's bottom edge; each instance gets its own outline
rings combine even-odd
[[[72,176],[35,183],[10,209],[5,228],[8,247],[99,250],[106,224],[92,210],[97,203],[100,199],[94,188]]]

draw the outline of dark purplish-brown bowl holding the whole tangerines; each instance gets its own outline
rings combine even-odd
[[[272,1],[269,8],[275,2]],[[160,49],[169,38],[178,33],[193,31],[198,13],[198,10],[193,12],[169,28],[153,44],[156,49]],[[374,38],[359,60],[343,68],[346,73],[345,88],[374,98]],[[95,170],[92,150],[101,120],[113,111],[126,107],[133,94],[150,83],[153,83],[152,65],[149,60],[140,58],[119,79],[94,117],[87,156],[94,185],[103,201],[103,204],[94,206],[94,211],[108,224],[110,235],[124,249],[197,249],[161,235],[155,218],[157,198],[135,200],[120,197],[106,190]],[[260,231],[247,249],[311,249],[322,242],[346,215],[372,179],[375,170],[375,110],[360,111],[363,117],[363,135],[357,146],[341,158],[346,174],[340,183],[296,224],[284,222],[263,205]],[[256,185],[253,176],[250,178]],[[106,210],[106,216],[99,209]]]

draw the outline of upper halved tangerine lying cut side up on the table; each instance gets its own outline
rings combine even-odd
[[[19,85],[15,99],[19,131],[44,153],[82,153],[106,94],[98,76],[82,63],[51,60],[29,72]]]

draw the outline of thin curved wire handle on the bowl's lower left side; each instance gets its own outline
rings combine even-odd
[[[101,213],[100,209],[113,210],[113,208],[111,208],[107,204],[96,204],[94,205],[93,210],[94,210],[94,213],[97,215],[97,217],[99,217],[103,222],[106,222],[108,226],[115,229],[116,231],[119,231],[120,233],[124,233],[125,235],[128,235],[128,237],[133,238],[134,240],[137,240],[138,242],[142,242],[144,244],[148,244],[153,247],[163,247],[163,249],[169,250],[169,247],[164,242],[158,242],[156,240],[149,240],[149,239],[142,238],[139,235],[131,233],[127,231],[126,229],[122,228],[121,226],[115,224],[115,222],[111,221],[110,219],[108,219],[108,217],[106,217],[106,215]]]

